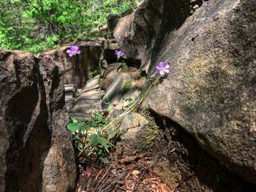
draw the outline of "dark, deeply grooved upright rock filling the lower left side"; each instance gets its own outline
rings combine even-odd
[[[75,190],[63,77],[50,58],[0,50],[0,191]]]

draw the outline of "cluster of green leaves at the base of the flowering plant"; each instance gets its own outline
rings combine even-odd
[[[72,132],[75,146],[81,153],[94,155],[103,163],[108,163],[107,155],[114,146],[117,131],[105,130],[108,121],[103,118],[102,113],[91,115],[91,120],[80,121],[72,118],[72,122],[67,125]]]

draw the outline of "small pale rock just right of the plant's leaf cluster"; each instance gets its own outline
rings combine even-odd
[[[130,112],[121,121],[118,129],[124,134],[121,134],[121,139],[125,145],[130,147],[138,147],[141,137],[148,130],[148,120],[137,112]]]

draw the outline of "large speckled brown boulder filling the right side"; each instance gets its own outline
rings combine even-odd
[[[166,1],[150,74],[159,61],[171,73],[144,106],[256,183],[256,1],[206,1],[190,17],[187,7]]]

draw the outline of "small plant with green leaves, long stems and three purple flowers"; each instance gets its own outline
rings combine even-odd
[[[67,50],[67,53],[70,57],[76,54],[80,54],[78,48],[70,47],[70,50]],[[116,55],[118,58],[124,56],[124,53],[116,50]],[[86,156],[94,156],[100,159],[103,163],[108,163],[108,153],[111,149],[118,149],[118,145],[116,144],[116,137],[118,131],[109,129],[110,125],[116,123],[118,120],[122,120],[126,115],[129,114],[132,110],[135,110],[137,107],[140,107],[140,104],[148,95],[151,88],[154,86],[155,77],[158,74],[161,77],[165,76],[170,72],[169,64],[165,64],[164,62],[160,62],[157,65],[157,72],[155,72],[151,77],[151,84],[146,89],[145,93],[142,93],[136,101],[132,101],[132,99],[126,99],[129,104],[124,106],[120,115],[116,118],[110,118],[110,113],[113,111],[113,108],[109,109],[107,112],[93,112],[91,109],[91,115],[89,120],[78,120],[76,118],[72,118],[72,121],[67,125],[69,131],[72,132],[73,139],[75,141],[75,147],[80,151],[80,154],[85,154]],[[160,77],[160,78],[161,78]],[[127,82],[124,85],[123,90],[128,91],[131,88],[132,82]],[[100,86],[99,86],[100,88]],[[157,137],[158,131],[151,130],[146,135],[146,145],[149,145],[152,140]]]

